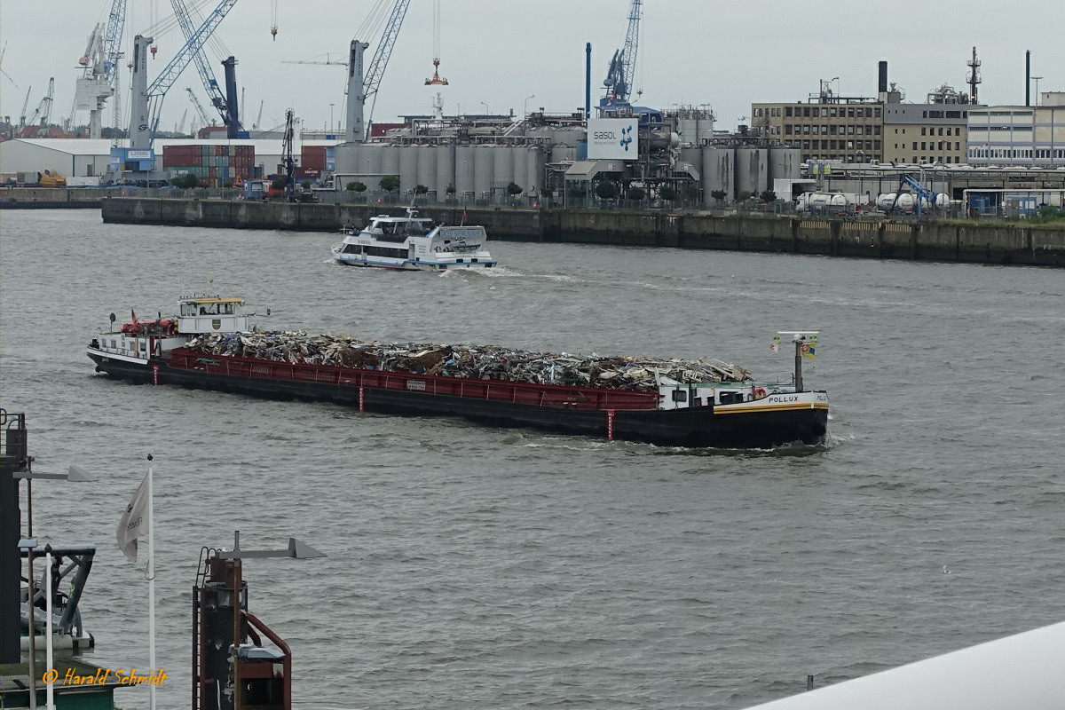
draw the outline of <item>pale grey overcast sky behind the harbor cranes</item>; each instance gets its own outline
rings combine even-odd
[[[208,7],[215,4],[212,0]],[[341,67],[280,62],[343,54],[377,0],[278,4],[276,40],[269,34],[272,0],[240,0],[217,31],[240,62],[237,81],[247,103],[244,122],[255,120],[260,101],[263,128],[282,122],[289,106],[306,127],[323,128],[333,103],[332,120],[341,121]],[[490,113],[513,109],[520,114],[530,95],[536,98],[528,99],[529,110],[574,111],[584,102],[585,43],[592,43],[597,97],[610,54],[624,39],[629,4],[442,0],[440,73],[450,82],[441,88],[445,111],[482,113],[487,104]],[[2,0],[4,115],[17,117],[30,86],[32,113],[49,77],[55,77],[53,117],[69,114],[77,60],[110,5],[111,0]],[[168,0],[129,0],[128,37],[147,29],[152,5],[159,18],[169,14]],[[436,87],[424,81],[432,73],[432,0],[411,2],[381,84],[377,121],[431,111]],[[875,95],[880,60],[888,61],[890,80],[905,89],[907,100],[921,101],[945,82],[967,90],[965,62],[976,46],[983,62],[981,102],[1023,103],[1026,49],[1032,50],[1032,73],[1044,77],[1039,89],[1065,89],[1063,20],[1062,4],[1045,0],[646,0],[635,87],[643,89],[642,104],[710,104],[718,128],[734,128],[750,115],[752,101],[805,100],[817,90],[819,79],[839,77],[839,89],[847,96]],[[364,39],[372,45],[368,63],[379,38]],[[178,30],[157,40],[153,72],[183,44]],[[223,57],[209,53],[209,59],[220,81]],[[122,79],[128,90],[128,71]],[[161,129],[171,129],[191,106],[185,86],[198,88],[203,100],[199,79],[190,68],[166,97]],[[128,114],[128,96],[122,104]],[[110,108],[104,116],[104,125],[110,125]],[[86,119],[79,116],[79,122]]]

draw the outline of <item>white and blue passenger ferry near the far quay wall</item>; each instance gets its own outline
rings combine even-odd
[[[405,217],[378,215],[361,230],[345,228],[344,241],[333,246],[341,264],[376,266],[404,271],[448,271],[495,266],[485,248],[484,227],[433,225],[413,208]]]

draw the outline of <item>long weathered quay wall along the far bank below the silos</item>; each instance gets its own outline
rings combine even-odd
[[[62,191],[60,191],[62,192]],[[768,251],[824,257],[1065,266],[1065,229],[1003,225],[843,221],[662,212],[419,208],[438,222],[484,225],[503,242]],[[402,207],[105,198],[103,221],[338,231]]]

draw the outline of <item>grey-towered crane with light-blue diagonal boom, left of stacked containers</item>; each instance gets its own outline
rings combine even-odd
[[[222,0],[218,6],[204,18],[203,23],[192,32],[184,46],[167,63],[155,80],[151,82],[151,85],[147,85],[147,53],[145,48],[152,42],[152,38],[141,35],[134,37],[133,106],[130,112],[131,149],[151,150],[155,127],[159,125],[159,114],[162,111],[166,93],[235,4],[236,0]]]

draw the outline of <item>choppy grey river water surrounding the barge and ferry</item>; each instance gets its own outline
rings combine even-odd
[[[190,694],[203,545],[246,565],[301,708],[743,708],[1059,622],[1065,275],[790,255],[503,244],[491,275],[328,262],[328,234],[3,214],[3,406],[29,415],[35,527],[92,542],[95,662],[147,666],[146,582],[115,547],[155,456],[163,708]],[[786,374],[820,328],[820,450],[698,452],[132,386],[93,373],[106,315],[187,290],[272,328]],[[949,574],[947,574],[949,573]],[[141,690],[120,704],[146,706]]]

